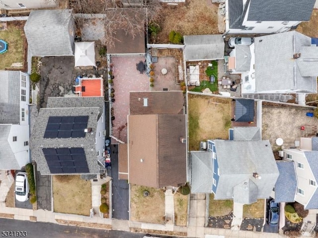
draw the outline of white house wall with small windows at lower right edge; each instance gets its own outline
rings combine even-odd
[[[316,190],[317,181],[315,180],[314,174],[307,162],[307,159],[304,155],[304,151],[297,149],[284,150],[284,159],[286,159],[286,154],[292,155],[292,160],[295,162],[296,175],[298,188],[304,190],[304,195],[299,194],[296,191],[295,201],[303,204],[304,206],[308,203],[313,193]],[[298,167],[298,162],[304,164],[304,168]],[[316,181],[316,186],[310,185],[309,180]]]

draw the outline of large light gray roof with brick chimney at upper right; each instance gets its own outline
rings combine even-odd
[[[296,31],[256,37],[256,91],[292,89],[317,92],[316,77],[304,77],[299,69],[306,69],[307,65],[314,63],[299,59],[301,64],[298,65],[298,60],[292,60],[294,54],[301,53],[304,46],[311,46],[311,38]]]

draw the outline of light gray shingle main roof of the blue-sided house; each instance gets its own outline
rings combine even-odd
[[[270,196],[279,172],[268,140],[214,141],[214,143],[220,171],[216,199],[233,198],[235,202],[252,201],[253,192],[238,193],[234,196],[234,187],[246,179],[251,179],[257,186],[257,198]],[[254,172],[258,173],[261,179],[254,178]],[[252,189],[253,186],[250,188]]]

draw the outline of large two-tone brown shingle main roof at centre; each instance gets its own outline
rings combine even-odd
[[[186,182],[185,121],[185,114],[128,117],[130,183],[161,188]]]

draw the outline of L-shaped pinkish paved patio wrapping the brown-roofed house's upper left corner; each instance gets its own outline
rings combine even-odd
[[[114,98],[111,105],[114,108],[112,120],[112,135],[127,143],[127,115],[129,113],[129,92],[150,90],[149,77],[140,74],[136,69],[136,64],[144,62],[144,56],[111,56],[113,65]],[[118,142],[112,139],[112,144]]]

